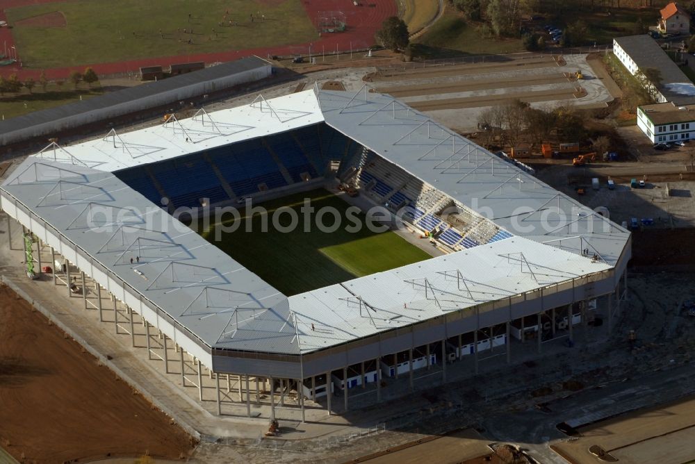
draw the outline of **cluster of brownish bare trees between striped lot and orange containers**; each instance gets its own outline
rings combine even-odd
[[[582,142],[587,138],[582,117],[573,106],[545,110],[517,99],[488,108],[481,113],[478,124],[485,129],[485,144],[515,147],[523,135],[536,146],[553,134],[564,142]]]

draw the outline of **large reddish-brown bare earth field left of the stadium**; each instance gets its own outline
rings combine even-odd
[[[188,456],[188,434],[0,287],[0,446],[28,463]]]

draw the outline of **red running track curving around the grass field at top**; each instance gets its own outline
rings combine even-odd
[[[2,0],[3,8],[12,6],[30,5],[35,3],[50,3],[62,0]],[[238,51],[223,51],[218,53],[199,53],[182,56],[163,56],[159,58],[144,58],[141,60],[120,61],[118,63],[85,63],[76,67],[60,67],[45,69],[49,79],[67,78],[73,71],[82,72],[86,66],[99,75],[124,74],[128,72],[139,72],[140,67],[162,65],[168,67],[174,63],[191,63],[204,61],[205,63],[215,63],[231,61],[245,56],[257,55],[266,56],[288,56],[295,53],[309,53],[311,45],[312,54],[320,54],[338,51],[349,51],[352,49],[366,49],[374,43],[374,34],[381,27],[384,19],[398,14],[394,0],[360,0],[360,6],[354,6],[352,0],[302,0],[304,10],[312,22],[316,21],[319,11],[340,10],[345,13],[347,29],[341,33],[325,33],[318,40],[303,44],[288,45],[284,47],[246,49]],[[4,10],[0,10],[0,19],[6,21]],[[10,28],[0,28],[0,47],[4,47],[6,42],[8,49],[15,44]],[[3,49],[0,48],[0,53]],[[21,54],[17,56],[19,63],[22,61]],[[9,76],[16,73],[20,79],[28,77],[38,78],[41,69],[27,69],[17,65],[0,67],[0,75]]]

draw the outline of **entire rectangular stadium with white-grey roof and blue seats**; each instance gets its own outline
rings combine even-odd
[[[415,370],[437,365],[445,382],[480,351],[512,362],[512,338],[571,341],[596,299],[609,327],[619,311],[628,231],[388,95],[316,86],[165,119],[51,142],[8,175],[0,206],[30,276],[55,266],[133,346],[142,324],[148,358],[180,363],[199,399],[212,385],[218,413],[265,401],[275,417],[291,392],[302,420],[306,399],[330,413],[338,395],[347,411],[350,390],[379,401],[387,377],[412,389]],[[402,225],[215,238],[262,219],[243,208],[201,225],[216,206],[291,216],[305,198]]]

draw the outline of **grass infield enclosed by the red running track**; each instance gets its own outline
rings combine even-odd
[[[72,0],[9,8],[6,13],[24,67],[32,68],[318,39],[300,0]]]

